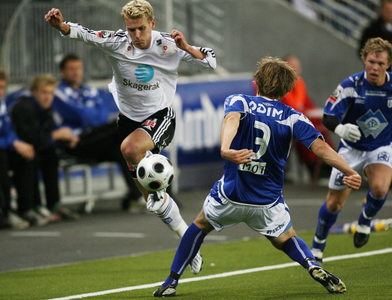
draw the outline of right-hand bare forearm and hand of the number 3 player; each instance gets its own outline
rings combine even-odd
[[[343,160],[343,158],[335,152],[326,142],[318,138],[310,146],[312,150],[319,158],[321,158],[326,164],[337,168],[345,175],[343,177],[343,184],[351,189],[358,190],[362,183],[362,178],[356,171]]]

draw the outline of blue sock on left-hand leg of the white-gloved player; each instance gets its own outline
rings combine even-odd
[[[327,209],[326,202],[324,202],[324,204],[321,206],[319,211],[319,220],[317,222],[315,239],[313,239],[313,248],[319,249],[321,251],[324,249],[326,243],[325,240],[327,239],[329,228],[331,228],[331,226],[335,224],[339,213],[340,212],[329,212]]]

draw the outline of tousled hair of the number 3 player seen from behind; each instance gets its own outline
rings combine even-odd
[[[266,56],[257,65],[259,68],[253,75],[253,80],[260,96],[281,100],[292,90],[298,79],[294,69],[277,57]]]

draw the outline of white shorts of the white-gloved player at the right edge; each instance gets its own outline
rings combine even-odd
[[[392,169],[392,144],[379,147],[372,151],[361,151],[345,145],[339,149],[338,153],[343,157],[346,163],[359,174],[361,174],[369,164],[385,164]],[[341,171],[332,168],[328,187],[338,191],[347,188],[343,184],[343,176],[344,174]]]

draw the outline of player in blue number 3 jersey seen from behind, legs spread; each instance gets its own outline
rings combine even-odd
[[[214,229],[221,231],[240,222],[266,236],[273,246],[308,270],[328,292],[346,291],[342,280],[322,269],[309,247],[294,232],[282,196],[283,173],[293,138],[346,174],[343,183],[347,187],[358,189],[361,177],[324,142],[302,113],[280,102],[297,80],[287,62],[265,57],[253,78],[257,96],[231,95],[225,100],[221,129],[221,156],[226,160],[223,176],[182,237],[171,273],[153,293],[154,297],[175,296],[178,279],[205,236]]]

